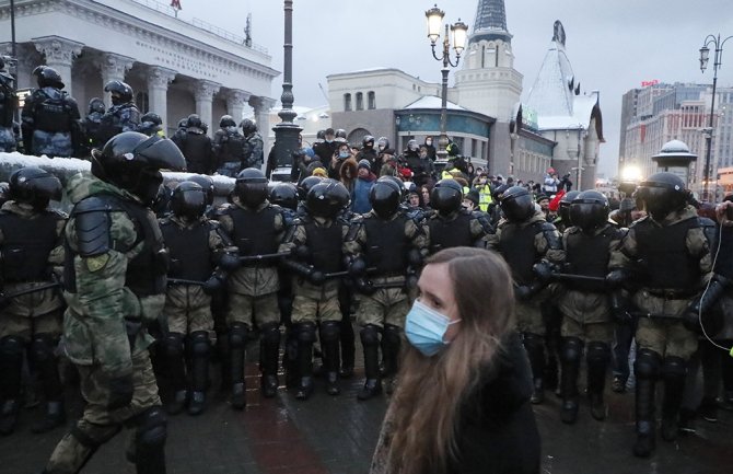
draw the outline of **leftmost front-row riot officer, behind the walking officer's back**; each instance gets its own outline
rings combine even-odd
[[[53,267],[63,263],[66,216],[48,208],[50,199],[60,199],[61,183],[44,170],[27,166],[10,176],[8,190],[10,200],[0,211],[0,379],[4,386],[0,433],[11,433],[18,421],[24,350],[44,388],[45,418],[33,426],[34,432],[44,432],[66,420],[55,355],[63,301],[58,288],[48,285]]]

